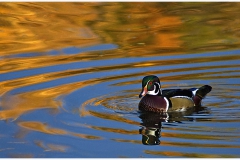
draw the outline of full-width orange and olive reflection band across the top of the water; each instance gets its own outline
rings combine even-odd
[[[2,2],[0,55],[104,42],[118,44],[131,56],[237,48],[239,6]]]

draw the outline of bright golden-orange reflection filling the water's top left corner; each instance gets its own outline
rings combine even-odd
[[[1,3],[0,55],[99,43],[95,3]],[[14,12],[13,12],[14,11]]]

